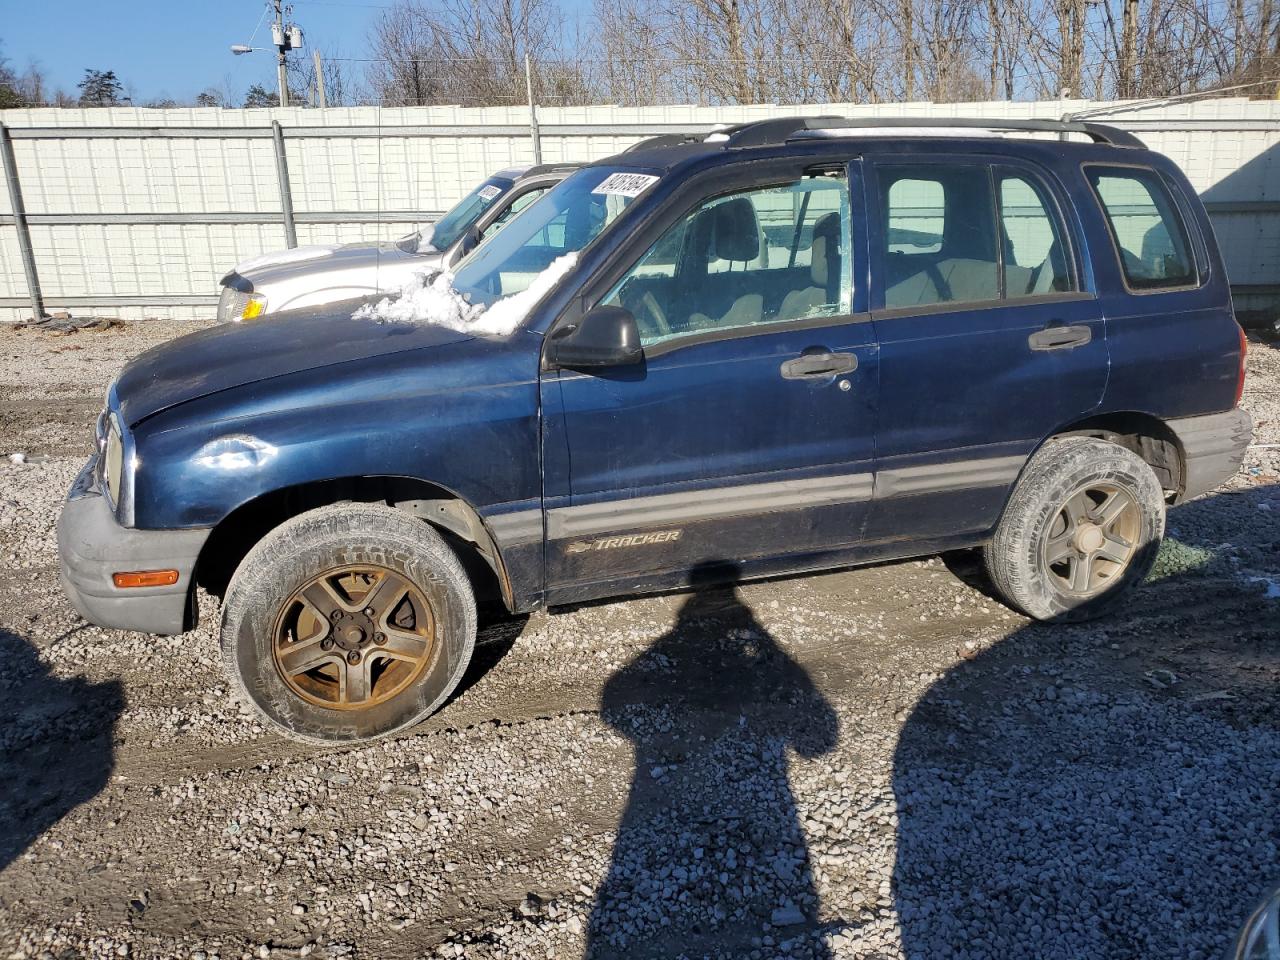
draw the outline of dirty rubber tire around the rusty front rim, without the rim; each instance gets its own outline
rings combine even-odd
[[[425,632],[433,643],[403,690],[361,709],[334,709],[291,689],[273,649],[289,599],[348,564],[389,571],[416,588],[430,604]],[[282,524],[241,562],[223,604],[223,660],[241,694],[282,733],[312,744],[385,737],[428,717],[462,680],[475,635],[471,584],[449,545],[421,520],[375,504],[321,507]]]

